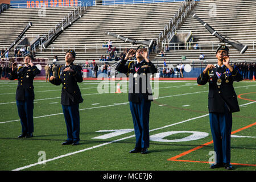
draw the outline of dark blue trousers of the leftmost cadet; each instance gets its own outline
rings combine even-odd
[[[20,123],[22,125],[22,133],[31,134],[34,132],[33,109],[34,100],[25,97],[25,101],[16,101]]]

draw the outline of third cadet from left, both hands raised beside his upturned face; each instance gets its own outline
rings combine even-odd
[[[126,61],[136,56],[137,61]],[[129,74],[129,101],[133,117],[136,145],[130,153],[147,154],[149,147],[149,116],[152,101],[150,75],[157,72],[154,64],[148,60],[147,49],[139,46],[136,51],[130,49],[117,65],[117,71]]]

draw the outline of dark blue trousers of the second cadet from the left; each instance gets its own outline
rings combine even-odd
[[[62,110],[67,126],[67,135],[69,141],[79,141],[80,134],[80,116],[79,116],[79,104],[64,106]]]

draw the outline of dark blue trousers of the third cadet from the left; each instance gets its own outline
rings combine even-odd
[[[150,143],[149,116],[151,102],[141,100],[141,103],[130,102],[131,115],[133,116],[134,132],[137,148],[148,148]]]

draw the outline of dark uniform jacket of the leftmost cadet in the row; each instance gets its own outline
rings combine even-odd
[[[40,70],[35,65],[32,67],[31,65],[28,65],[28,67],[19,67],[10,73],[10,80],[18,78],[18,86],[16,89],[17,101],[24,101],[25,94],[28,99],[35,99],[33,80],[39,73]]]

